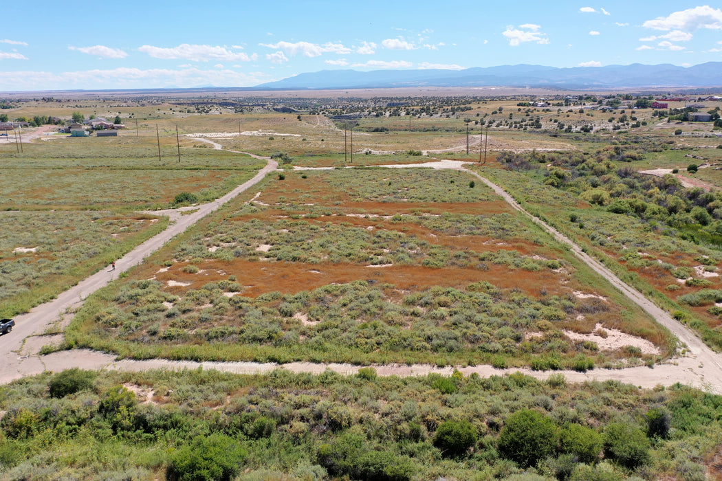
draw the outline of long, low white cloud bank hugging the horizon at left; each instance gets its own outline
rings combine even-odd
[[[252,87],[269,76],[260,73],[243,74],[232,70],[200,69],[109,69],[62,72],[0,71],[0,91],[16,91],[19,85],[25,90],[53,89],[125,89],[198,87]]]

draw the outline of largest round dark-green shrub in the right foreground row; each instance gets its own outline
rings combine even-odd
[[[552,456],[556,446],[554,421],[533,410],[521,410],[511,415],[498,441],[500,454],[522,467],[535,466],[541,459]]]

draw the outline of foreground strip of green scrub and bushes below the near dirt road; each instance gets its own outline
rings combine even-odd
[[[523,374],[62,371],[0,388],[9,480],[704,480],[722,397]]]

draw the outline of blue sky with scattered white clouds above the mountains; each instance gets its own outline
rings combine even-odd
[[[0,92],[255,87],[331,69],[722,61],[690,1],[12,1]]]

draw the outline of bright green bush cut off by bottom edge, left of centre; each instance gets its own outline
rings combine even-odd
[[[201,436],[170,456],[165,475],[170,481],[230,481],[247,456],[229,436]]]

